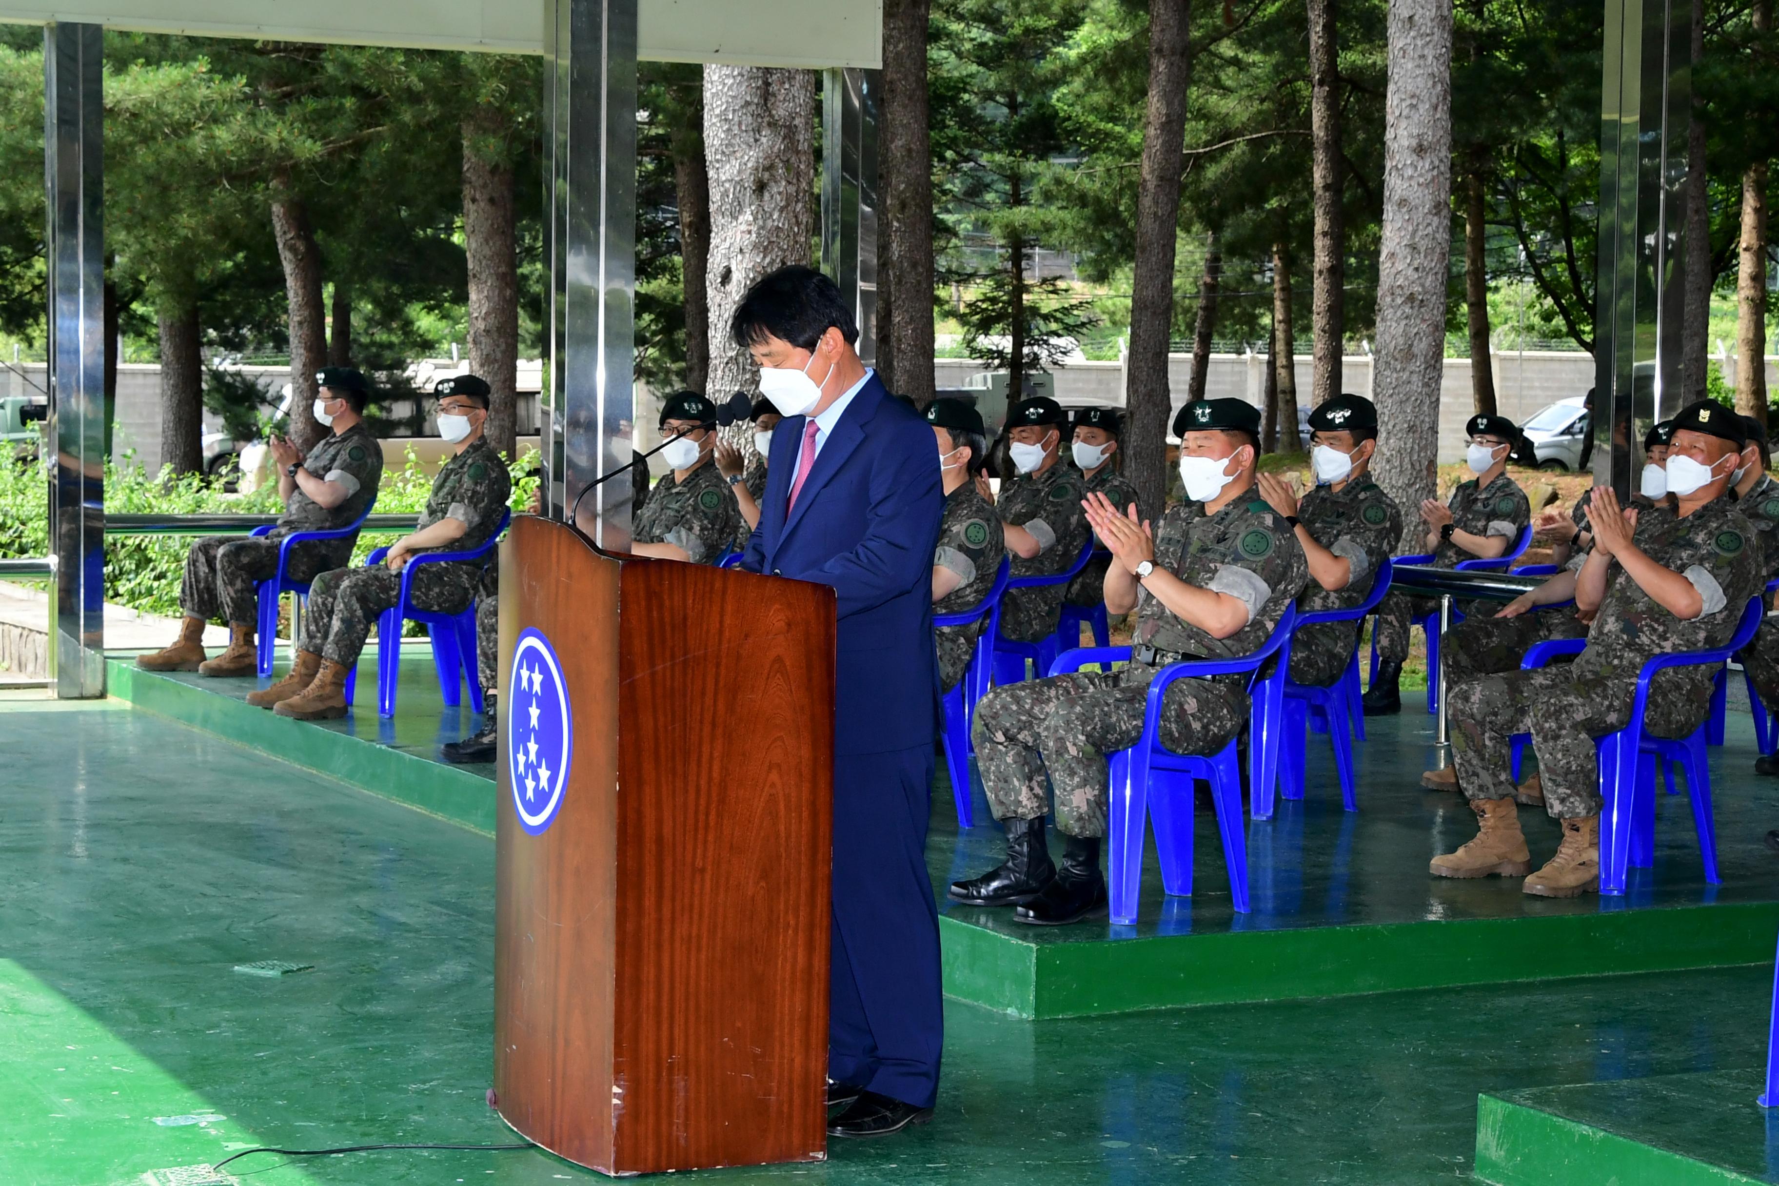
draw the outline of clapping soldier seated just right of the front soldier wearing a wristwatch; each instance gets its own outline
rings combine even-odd
[[[1377,567],[1402,541],[1397,500],[1372,480],[1377,407],[1336,395],[1309,413],[1309,464],[1316,485],[1302,501],[1272,473],[1260,494],[1284,516],[1304,549],[1309,580],[1299,610],[1350,610],[1372,594]],[[1359,622],[1304,626],[1292,635],[1292,679],[1325,688],[1341,677],[1359,645]]]

